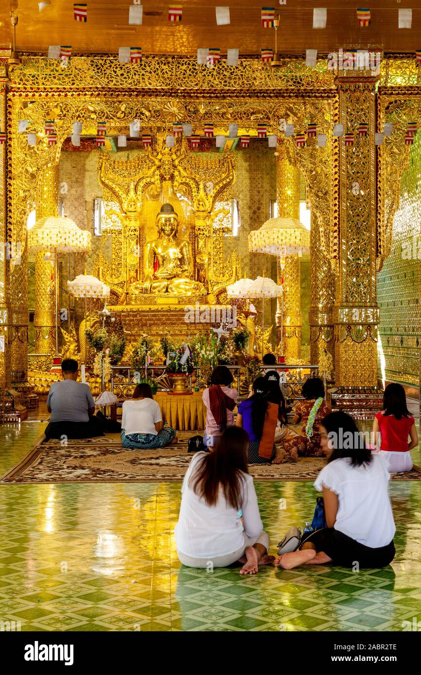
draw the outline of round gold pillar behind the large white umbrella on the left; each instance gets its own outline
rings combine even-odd
[[[58,211],[58,165],[45,169],[36,190],[36,219],[56,216]],[[35,352],[55,354],[55,279],[53,257],[35,253]]]

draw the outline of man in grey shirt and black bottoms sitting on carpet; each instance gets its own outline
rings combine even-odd
[[[47,438],[91,438],[103,436],[103,421],[94,416],[95,401],[89,385],[78,382],[78,362],[66,358],[61,363],[63,379],[54,382],[47,398],[51,417],[45,436]]]

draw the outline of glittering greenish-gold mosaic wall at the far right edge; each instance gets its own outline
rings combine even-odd
[[[378,274],[381,349],[386,379],[418,385],[421,346],[421,135],[401,178],[392,250]]]

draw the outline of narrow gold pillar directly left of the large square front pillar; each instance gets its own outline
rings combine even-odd
[[[313,211],[310,249],[310,360],[312,364],[318,364],[323,349],[335,358],[332,325],[335,277],[330,261],[322,250],[319,220]]]

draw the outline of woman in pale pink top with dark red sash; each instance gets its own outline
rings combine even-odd
[[[211,385],[203,391],[206,406],[206,427],[203,443],[212,448],[215,439],[226,427],[234,425],[234,408],[237,405],[237,389],[232,389],[232,373],[226,366],[217,366],[211,375]]]

